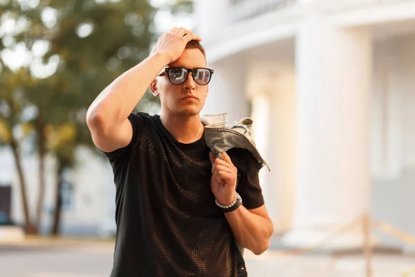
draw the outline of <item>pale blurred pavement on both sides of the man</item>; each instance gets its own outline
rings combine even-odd
[[[1,242],[0,276],[108,277],[112,256],[113,240],[28,238],[19,243]],[[281,256],[271,250],[255,256],[246,250],[245,259],[250,277],[365,277],[365,260],[359,254]],[[415,272],[411,273],[415,256],[376,254],[372,263],[372,277],[415,277]]]

